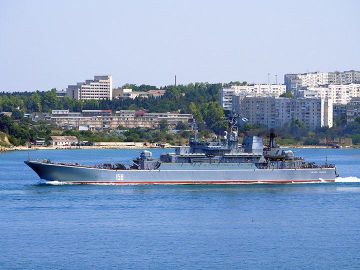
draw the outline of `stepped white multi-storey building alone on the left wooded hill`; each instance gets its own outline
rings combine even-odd
[[[66,96],[80,100],[112,99],[112,76],[94,76],[94,79],[86,79],[85,82],[68,85]]]

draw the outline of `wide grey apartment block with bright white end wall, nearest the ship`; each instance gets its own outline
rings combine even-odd
[[[324,98],[286,98],[233,96],[233,109],[253,125],[282,126],[299,119],[309,130],[332,126],[332,100]]]

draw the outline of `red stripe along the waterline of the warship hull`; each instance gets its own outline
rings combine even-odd
[[[302,183],[302,182],[334,182],[335,180],[263,180],[263,181],[86,181],[71,183],[116,183],[116,184],[171,184],[171,183]]]

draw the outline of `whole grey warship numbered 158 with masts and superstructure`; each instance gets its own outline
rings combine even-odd
[[[238,116],[229,116],[229,132],[217,138],[197,138],[194,134],[188,146],[175,152],[153,158],[151,151],[143,150],[129,165],[105,162],[97,166],[78,163],[52,162],[47,159],[25,160],[41,179],[72,183],[292,183],[333,182],[334,164],[306,163],[291,150],[282,150],[270,133],[268,144],[258,136],[243,138],[238,143]]]

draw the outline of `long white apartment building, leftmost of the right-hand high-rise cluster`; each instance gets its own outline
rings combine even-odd
[[[243,95],[264,95],[276,96],[286,91],[284,84],[247,84],[223,86],[219,90],[219,104],[223,109],[232,108],[232,96]]]

